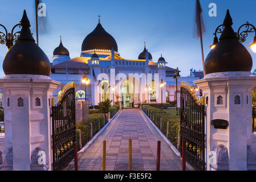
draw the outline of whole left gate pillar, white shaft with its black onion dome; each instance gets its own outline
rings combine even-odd
[[[5,107],[5,151],[1,169],[51,170],[52,92],[60,82],[51,80],[48,57],[35,43],[24,10],[18,42],[3,60],[0,79]]]

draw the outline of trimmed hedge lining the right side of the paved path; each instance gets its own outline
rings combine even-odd
[[[168,128],[168,140],[177,148],[177,135],[180,130],[180,117],[176,114],[168,114],[166,111],[152,107],[151,105],[143,104],[142,110],[148,117],[155,123],[160,131],[166,136],[167,134],[167,122],[169,122]],[[154,119],[153,119],[154,114]],[[160,129],[160,118],[162,118],[162,129]]]

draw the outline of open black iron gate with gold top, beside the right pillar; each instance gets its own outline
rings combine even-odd
[[[204,97],[198,98],[192,86],[181,82],[180,142],[185,140],[186,161],[200,171],[205,170],[204,117]]]

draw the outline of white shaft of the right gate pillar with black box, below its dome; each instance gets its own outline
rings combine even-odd
[[[194,82],[203,90],[207,106],[207,170],[247,170],[256,77],[250,72],[219,72]]]

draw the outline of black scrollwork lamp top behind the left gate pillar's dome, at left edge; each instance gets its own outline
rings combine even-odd
[[[20,23],[16,24],[13,27],[13,29],[11,30],[11,33],[8,33],[6,27],[3,26],[2,24],[0,24],[0,26],[5,29],[5,33],[0,32],[0,44],[6,44],[9,51],[10,48],[13,47],[13,45],[16,44],[16,42],[18,42],[20,31],[15,33],[13,33],[13,31],[17,26],[19,26],[19,28],[21,27]]]

